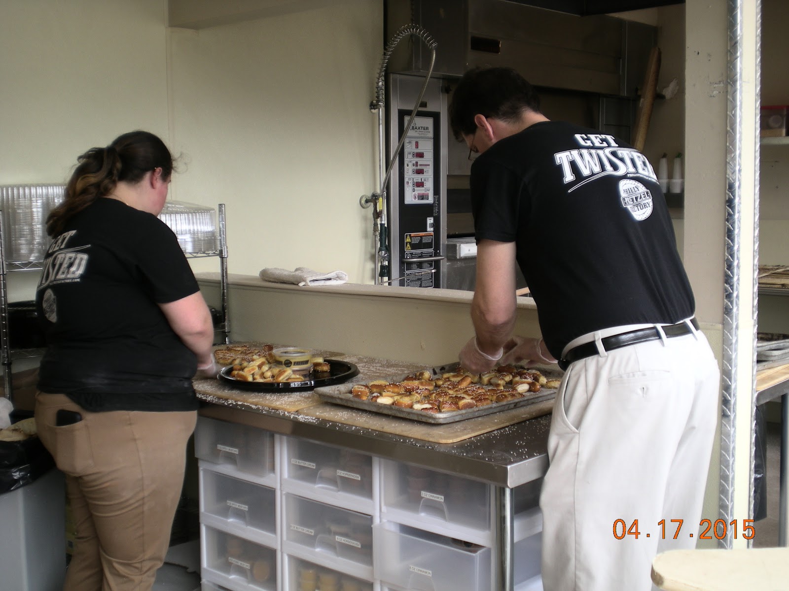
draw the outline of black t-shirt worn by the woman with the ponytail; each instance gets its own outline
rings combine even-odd
[[[47,351],[39,390],[88,411],[192,411],[196,356],[157,304],[198,291],[157,217],[99,198],[47,251],[36,291]]]

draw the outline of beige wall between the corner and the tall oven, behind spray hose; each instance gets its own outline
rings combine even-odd
[[[377,0],[170,29],[174,195],[226,203],[229,267],[342,269],[372,282]],[[210,260],[193,265],[213,270]]]

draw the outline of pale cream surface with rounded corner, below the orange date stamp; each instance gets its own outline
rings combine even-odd
[[[652,580],[667,591],[789,589],[789,548],[670,550],[653,560]]]

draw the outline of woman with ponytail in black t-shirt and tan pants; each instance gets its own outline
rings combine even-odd
[[[218,369],[213,327],[178,240],[156,217],[173,170],[162,140],[125,133],[78,162],[47,218],[36,425],[65,472],[77,533],[65,591],[144,591],[181,494],[192,378]]]

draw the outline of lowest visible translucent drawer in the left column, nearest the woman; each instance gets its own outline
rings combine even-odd
[[[275,550],[205,525],[202,531],[204,576],[219,574],[235,588],[277,589]]]

